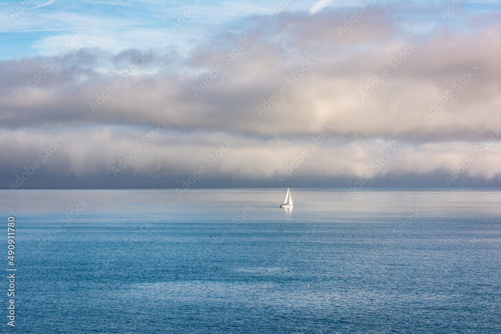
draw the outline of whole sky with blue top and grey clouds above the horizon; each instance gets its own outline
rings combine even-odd
[[[4,1],[0,187],[499,187],[497,1]]]

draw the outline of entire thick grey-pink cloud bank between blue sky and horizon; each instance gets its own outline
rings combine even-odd
[[[248,17],[187,54],[98,43],[0,62],[1,186],[63,132],[68,141],[30,182],[176,187],[230,140],[197,186],[281,184],[292,164],[285,179],[303,185],[349,186],[370,172],[392,185],[441,175],[436,186],[447,186],[454,170],[458,180],[498,184],[499,15],[464,17],[461,27],[474,27],[465,32],[424,7],[432,28],[417,32],[401,6],[375,5],[346,27],[353,11],[343,8]],[[168,128],[146,145],[161,120]],[[335,130],[314,150],[326,125]],[[137,145],[144,150],[115,176]]]

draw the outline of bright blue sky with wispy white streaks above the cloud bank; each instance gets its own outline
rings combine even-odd
[[[167,48],[188,51],[194,43],[217,34],[218,28],[238,29],[240,19],[253,15],[276,15],[280,11],[308,12],[326,8],[353,8],[372,1],[4,1],[0,3],[0,59],[55,53],[73,34],[86,36],[79,47],[99,47],[112,52],[128,48]],[[378,5],[391,1],[377,1]],[[396,3],[396,2],[393,2]],[[445,9],[448,2],[412,2]],[[458,11],[499,10],[495,1],[468,1]],[[178,29],[173,29],[187,8],[189,13]],[[441,17],[419,17],[408,13],[410,20],[440,24]],[[451,15],[447,20],[457,19]]]

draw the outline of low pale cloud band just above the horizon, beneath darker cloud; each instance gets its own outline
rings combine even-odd
[[[325,141],[319,135],[308,141],[258,140],[226,133],[179,132],[168,128],[155,134],[155,127],[144,127],[142,131],[121,126],[101,126],[92,130],[74,127],[71,131],[54,127],[51,130],[52,133],[34,129],[2,132],[0,154],[5,159],[0,167],[4,179],[14,182],[16,175],[25,172],[26,167],[36,161],[41,164],[37,174],[56,169],[62,176],[107,175],[117,181],[120,177],[156,175],[179,185],[183,178],[202,166],[207,170],[204,177],[208,179],[230,177],[275,182],[308,178],[409,177],[437,171],[442,172],[444,178],[455,178],[457,174],[455,179],[492,180],[501,174],[499,130],[494,141],[487,137],[466,145],[416,145],[375,140],[342,142],[335,138]],[[58,136],[64,139],[64,144],[52,152],[50,147]],[[229,149],[218,155],[224,143],[230,144]],[[133,159],[128,161],[128,156]],[[122,170],[114,176],[113,171],[117,168]],[[443,182],[438,186],[446,187]],[[27,184],[29,186],[30,182]]]

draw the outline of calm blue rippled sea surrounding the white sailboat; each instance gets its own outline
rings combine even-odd
[[[16,331],[500,332],[500,191],[291,192],[0,191]]]

